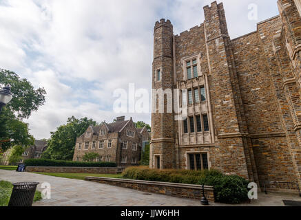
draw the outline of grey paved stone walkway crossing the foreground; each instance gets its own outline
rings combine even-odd
[[[65,179],[34,173],[0,170],[0,180],[48,182],[51,185],[52,198],[42,199],[34,203],[34,206],[201,206],[200,201],[194,199],[150,194],[92,181]],[[39,184],[38,190],[43,190],[41,184]],[[250,204],[238,206],[284,206],[283,199],[301,201],[301,197],[298,195],[259,193],[259,199],[253,200]],[[227,206],[220,203],[211,203],[210,205]]]

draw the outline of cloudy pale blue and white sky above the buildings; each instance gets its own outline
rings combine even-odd
[[[152,88],[154,24],[180,34],[204,21],[207,0],[0,0],[0,69],[47,91],[28,120],[35,138],[49,138],[74,115],[97,122],[118,116],[150,124],[150,113],[116,113],[114,91]],[[224,0],[229,35],[256,30],[279,14],[277,0]],[[249,19],[257,6],[258,17]],[[251,7],[251,8],[249,8]]]

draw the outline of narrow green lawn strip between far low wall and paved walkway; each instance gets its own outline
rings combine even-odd
[[[49,175],[54,177],[63,177],[69,179],[81,179],[81,180],[85,179],[85,177],[122,178],[121,174],[96,174],[96,173],[37,173],[37,174]]]

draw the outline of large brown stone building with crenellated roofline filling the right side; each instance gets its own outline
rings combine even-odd
[[[171,21],[156,22],[152,87],[172,91],[188,117],[167,113],[166,99],[159,113],[153,91],[152,168],[218,169],[260,186],[301,187],[301,1],[278,8],[237,39],[216,1],[204,7],[204,23],[179,35]]]

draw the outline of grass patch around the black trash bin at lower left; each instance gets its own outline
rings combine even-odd
[[[0,206],[8,206],[10,195],[12,195],[12,184],[9,181],[0,181]],[[36,190],[34,202],[42,199],[41,192]]]

